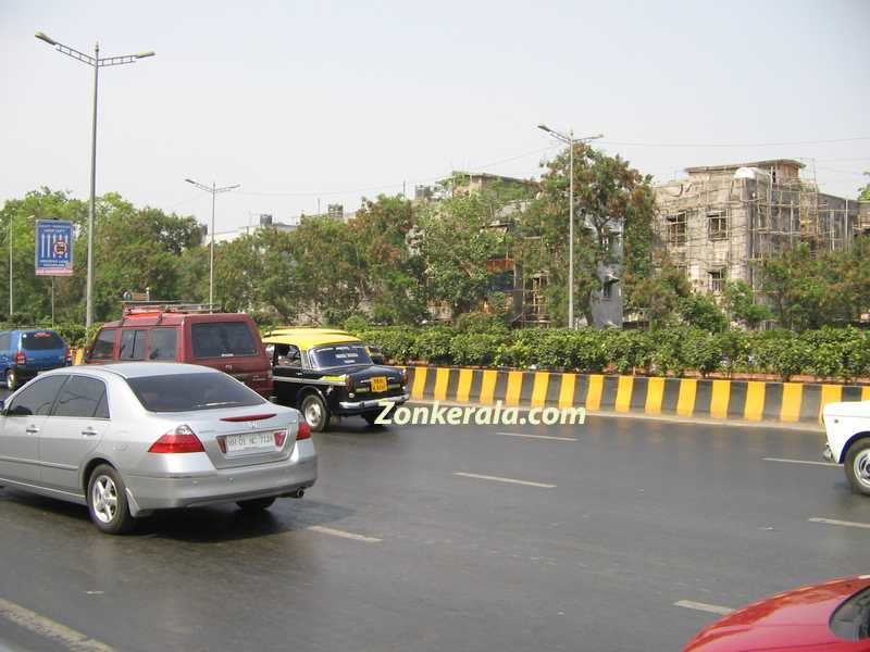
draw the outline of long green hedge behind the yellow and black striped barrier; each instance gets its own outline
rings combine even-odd
[[[355,329],[399,364],[574,369],[683,375],[687,372],[870,377],[870,336],[857,328],[796,334],[775,329],[711,334],[691,327],[646,330],[432,326]]]

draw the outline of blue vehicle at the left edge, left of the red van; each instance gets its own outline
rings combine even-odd
[[[10,390],[39,372],[67,364],[70,347],[53,330],[0,331],[0,374]]]

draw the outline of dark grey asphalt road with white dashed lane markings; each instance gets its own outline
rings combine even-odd
[[[870,572],[870,529],[809,521],[870,524],[870,499],[849,492],[842,468],[765,460],[818,462],[820,437],[604,417],[347,419],[315,436],[320,479],[303,499],[254,517],[157,515],[121,538],[99,535],[83,507],[0,490],[0,599],[92,639],[38,636],[0,603],[0,641],[679,650],[718,616],[675,602],[734,607]]]

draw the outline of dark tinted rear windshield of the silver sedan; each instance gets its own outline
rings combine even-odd
[[[127,378],[149,412],[191,412],[261,405],[265,400],[225,374],[173,374]]]

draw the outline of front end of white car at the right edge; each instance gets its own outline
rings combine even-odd
[[[856,493],[870,496],[870,401],[828,403],[822,418],[828,432],[822,455],[843,464]]]

